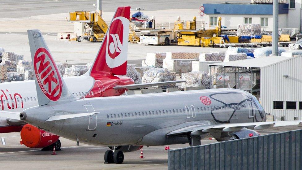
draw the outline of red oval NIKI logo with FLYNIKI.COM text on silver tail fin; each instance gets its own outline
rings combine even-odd
[[[62,80],[54,60],[45,48],[39,48],[33,59],[38,84],[47,98],[57,101],[62,93]]]

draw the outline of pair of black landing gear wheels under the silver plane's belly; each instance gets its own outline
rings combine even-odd
[[[123,163],[124,154],[121,150],[117,150],[116,146],[113,147],[113,150],[107,150],[104,155],[104,163]]]

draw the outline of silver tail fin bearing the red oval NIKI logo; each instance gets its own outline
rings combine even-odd
[[[71,95],[40,30],[27,30],[39,105],[76,100]]]

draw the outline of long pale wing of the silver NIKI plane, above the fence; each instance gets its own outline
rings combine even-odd
[[[178,135],[178,134],[187,134],[191,133],[191,135],[201,135],[204,133],[210,132],[237,132],[243,128],[248,129],[267,129],[270,127],[279,127],[279,126],[291,126],[298,125],[302,123],[302,120],[295,121],[273,121],[273,122],[251,122],[251,123],[229,123],[229,124],[215,124],[215,125],[192,125],[185,128],[177,129],[171,131],[166,135]]]

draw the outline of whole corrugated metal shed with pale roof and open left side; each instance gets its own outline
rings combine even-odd
[[[245,59],[210,65],[222,68],[225,75],[233,70],[236,74],[234,87],[254,94],[265,112],[273,115],[275,121],[302,120],[302,56],[264,57],[253,59],[253,62]],[[224,76],[225,87],[228,87],[234,73],[227,78]],[[249,76],[251,73],[254,76]]]

